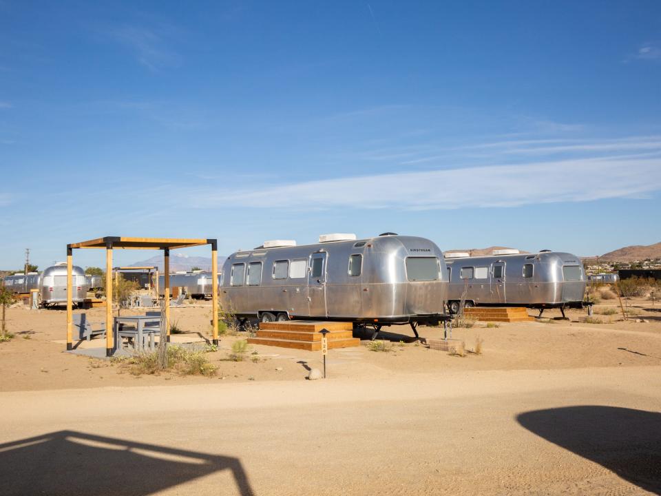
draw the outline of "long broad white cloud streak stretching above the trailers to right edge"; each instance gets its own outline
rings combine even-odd
[[[661,190],[661,158],[585,158],[342,177],[198,195],[198,207],[459,209],[516,207]]]

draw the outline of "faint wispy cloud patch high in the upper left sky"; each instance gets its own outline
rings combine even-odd
[[[173,30],[166,25],[158,28],[145,28],[144,26],[124,24],[109,30],[109,35],[121,45],[131,50],[136,60],[152,71],[176,66],[180,63],[180,56],[171,50],[166,37]]]

